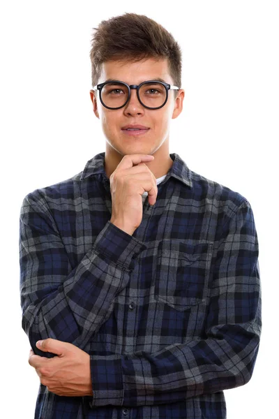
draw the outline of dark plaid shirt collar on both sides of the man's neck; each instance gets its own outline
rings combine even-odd
[[[185,161],[183,161],[179,154],[176,153],[169,154],[169,156],[174,161],[174,163],[172,167],[169,169],[169,172],[167,172],[165,180],[172,176],[180,180],[183,184],[186,184],[187,186],[190,186],[190,188],[192,188],[192,172],[186,165]],[[86,179],[86,177],[95,175],[103,175],[103,177],[107,178],[107,175],[105,173],[104,161],[105,152],[96,154],[96,156],[87,161],[84,170],[82,171],[80,179],[83,180]]]

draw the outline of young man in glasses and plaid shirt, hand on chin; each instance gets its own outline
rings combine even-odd
[[[184,98],[171,34],[114,17],[91,62],[105,152],[20,216],[35,418],[225,418],[223,390],[250,380],[259,348],[250,204],[169,154]]]

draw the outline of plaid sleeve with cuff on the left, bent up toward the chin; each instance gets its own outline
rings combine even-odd
[[[71,267],[47,205],[29,193],[20,211],[22,328],[35,353],[51,337],[84,348],[114,307],[146,245],[107,221],[92,249]]]

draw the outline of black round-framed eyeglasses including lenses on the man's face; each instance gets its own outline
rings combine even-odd
[[[107,109],[123,108],[130,100],[130,89],[137,89],[137,98],[144,108],[160,109],[167,103],[169,90],[179,90],[179,87],[158,80],[130,86],[119,80],[112,80],[93,87],[93,91],[99,91],[100,101]]]

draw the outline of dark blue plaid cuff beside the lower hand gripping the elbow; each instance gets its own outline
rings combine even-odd
[[[122,406],[124,390],[121,355],[91,355],[90,369],[93,396],[90,407]]]

